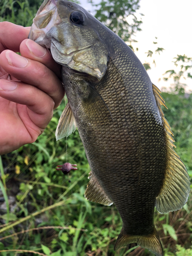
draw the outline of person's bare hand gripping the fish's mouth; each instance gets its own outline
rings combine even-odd
[[[29,31],[0,23],[0,155],[34,142],[65,93],[60,66]]]

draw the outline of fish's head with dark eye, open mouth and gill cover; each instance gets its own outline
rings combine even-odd
[[[103,25],[76,3],[45,0],[33,19],[29,38],[50,49],[62,66],[100,80],[107,69],[109,49],[99,26]]]

